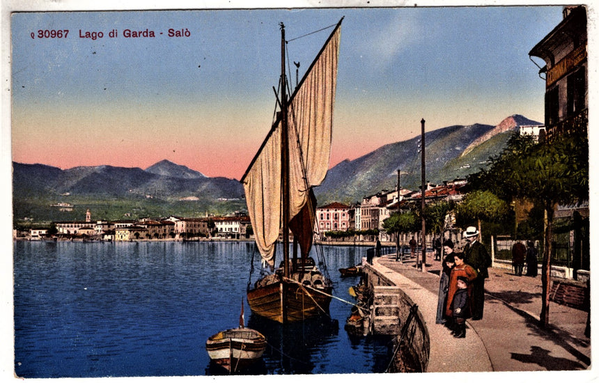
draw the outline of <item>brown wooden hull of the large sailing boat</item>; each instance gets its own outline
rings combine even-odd
[[[285,294],[283,294],[285,292]],[[324,292],[326,295],[322,294]],[[279,281],[247,292],[251,311],[264,318],[283,322],[299,322],[329,313],[332,287],[313,289],[297,283]],[[283,302],[283,296],[285,302]],[[283,306],[286,318],[283,321]]]

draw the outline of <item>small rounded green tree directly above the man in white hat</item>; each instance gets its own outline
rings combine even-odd
[[[475,190],[464,198],[458,206],[458,214],[462,220],[475,220],[481,230],[481,221],[501,221],[508,217],[510,205],[488,190]],[[481,235],[482,237],[482,235]]]

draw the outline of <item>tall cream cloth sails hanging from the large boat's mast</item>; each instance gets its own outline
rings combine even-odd
[[[290,219],[311,199],[310,188],[320,185],[327,174],[340,37],[341,29],[337,27],[290,97]],[[274,244],[282,227],[282,131],[281,118],[277,118],[242,179],[256,244],[263,260],[271,266],[274,265]]]

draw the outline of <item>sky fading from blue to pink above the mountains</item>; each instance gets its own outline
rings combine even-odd
[[[168,159],[239,180],[272,123],[279,22],[301,78],[332,29],[295,38],[341,17],[330,166],[417,136],[422,118],[427,131],[497,125],[513,114],[542,123],[545,81],[528,52],[559,24],[561,10],[13,13],[12,158],[61,169],[146,169]],[[65,29],[66,38],[38,37]],[[126,38],[126,29],[155,37]],[[169,29],[189,36],[169,37]],[[103,37],[84,37],[93,32]]]

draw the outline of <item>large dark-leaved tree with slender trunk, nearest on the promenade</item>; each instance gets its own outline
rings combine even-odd
[[[581,136],[558,136],[550,143],[534,143],[513,136],[487,170],[476,173],[475,189],[497,191],[503,198],[527,198],[543,208],[543,306],[540,325],[549,324],[549,292],[554,210],[559,203],[589,201],[589,141]]]

